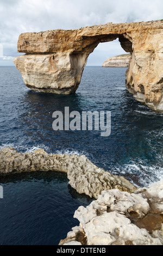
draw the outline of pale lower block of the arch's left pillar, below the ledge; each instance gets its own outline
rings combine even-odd
[[[45,93],[76,92],[86,65],[87,53],[26,54],[17,57],[15,65],[21,71],[26,86]]]

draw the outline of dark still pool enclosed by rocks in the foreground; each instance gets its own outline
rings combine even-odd
[[[68,185],[64,173],[13,174],[0,184],[0,245],[58,245],[79,225],[74,211],[91,203]]]

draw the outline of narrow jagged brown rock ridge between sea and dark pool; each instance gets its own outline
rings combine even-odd
[[[134,192],[136,187],[123,176],[112,175],[91,163],[86,156],[52,155],[43,149],[18,153],[14,148],[0,150],[0,175],[16,172],[60,171],[67,173],[69,184],[80,194],[97,198],[103,190],[118,188]]]

